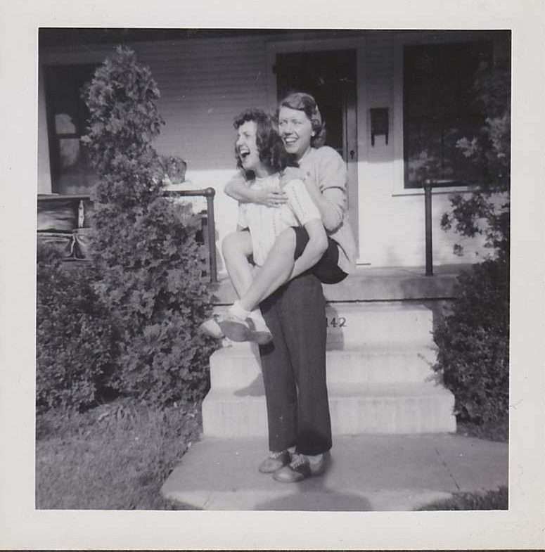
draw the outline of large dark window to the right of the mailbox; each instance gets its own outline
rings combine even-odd
[[[491,41],[404,47],[405,188],[420,188],[425,179],[453,186],[483,176],[486,167],[465,158],[456,142],[480,134],[485,115],[474,101],[473,82],[491,62]]]

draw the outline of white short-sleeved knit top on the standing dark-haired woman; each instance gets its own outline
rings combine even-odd
[[[280,189],[278,173],[255,179],[250,186],[256,188]],[[312,201],[303,181],[291,180],[284,186],[288,202],[281,207],[267,207],[258,203],[239,203],[238,225],[250,230],[254,262],[262,267],[276,238],[290,226],[304,226],[307,222],[321,220],[318,207]]]

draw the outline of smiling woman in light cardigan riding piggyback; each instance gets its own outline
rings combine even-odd
[[[251,151],[255,146],[248,143],[246,129],[241,132],[245,121],[238,119],[235,123],[239,130],[236,150],[238,164],[244,169],[246,178],[233,179],[226,185],[225,191],[243,203],[241,210],[259,210],[262,213],[271,210],[274,213],[274,210],[288,208],[286,184],[290,180],[303,180],[304,187],[319,207],[323,226],[328,231],[328,243],[325,252],[320,252],[319,248],[314,247],[314,242],[307,245],[309,236],[305,229],[295,225],[284,227],[283,231],[275,233],[274,247],[269,248],[267,260],[256,276],[248,261],[255,250],[251,232],[237,231],[226,236],[224,259],[239,300],[223,319],[211,319],[203,325],[207,333],[215,338],[227,335],[235,341],[255,340],[263,344],[270,340],[270,332],[256,308],[259,302],[309,269],[321,282],[337,283],[355,268],[355,243],[346,212],[345,162],[333,148],[312,147],[312,143],[323,136],[321,115],[314,98],[309,94],[290,94],[280,104],[278,119],[284,148],[302,169],[296,168],[297,163],[290,162],[281,175],[280,186],[278,181],[253,181],[245,159],[251,160]],[[269,217],[274,216],[269,214]]]

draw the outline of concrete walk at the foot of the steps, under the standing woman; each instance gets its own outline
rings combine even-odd
[[[508,445],[460,435],[334,437],[327,473],[283,484],[257,471],[264,438],[207,437],[162,494],[205,510],[410,511],[459,491],[508,484]]]

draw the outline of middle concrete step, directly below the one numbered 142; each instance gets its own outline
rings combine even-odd
[[[435,349],[425,344],[331,348],[326,353],[328,384],[423,382],[433,374],[435,357]],[[210,357],[213,389],[243,389],[261,377],[257,345],[224,347]]]

